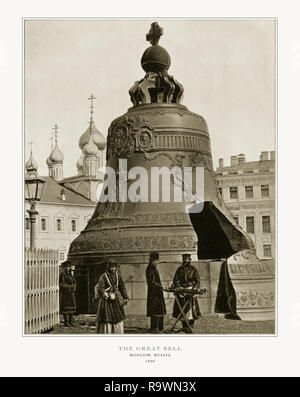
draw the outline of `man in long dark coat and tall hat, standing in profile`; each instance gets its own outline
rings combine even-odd
[[[149,265],[146,269],[146,279],[148,285],[147,293],[147,317],[150,317],[150,332],[161,332],[164,328],[164,315],[166,305],[163,291],[160,287],[160,277],[157,270],[159,262],[158,252],[151,252]]]

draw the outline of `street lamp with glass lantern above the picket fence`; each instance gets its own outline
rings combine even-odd
[[[29,214],[30,223],[30,248],[35,248],[36,241],[36,204],[40,201],[45,181],[38,177],[36,172],[31,172],[25,177],[25,200],[30,203]]]

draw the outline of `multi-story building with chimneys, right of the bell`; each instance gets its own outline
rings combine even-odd
[[[229,166],[219,159],[216,169],[220,193],[235,221],[253,239],[257,256],[274,264],[275,152],[261,152],[259,161],[231,156]]]

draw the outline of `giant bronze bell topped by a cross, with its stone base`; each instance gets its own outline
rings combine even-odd
[[[233,301],[232,296],[229,297],[229,306],[232,309],[233,302],[235,311],[239,309],[236,283],[234,281],[232,285],[224,259],[239,252],[247,252],[249,258],[256,258],[252,240],[236,225],[220,196],[206,121],[180,104],[183,87],[168,74],[170,56],[158,45],[162,33],[156,22],[151,25],[146,35],[151,46],[141,59],[146,75],[129,91],[133,107],[115,119],[108,130],[107,166],[116,171],[116,201],[98,203],[88,225],[69,250],[68,258],[76,269],[78,306],[83,312],[95,311],[93,287],[104,270],[105,262],[114,259],[120,263],[131,298],[127,313],[145,314],[145,268],[151,251],[160,253],[159,269],[165,286],[172,282],[175,270],[181,264],[181,255],[193,255],[202,287],[209,290],[209,295],[201,299],[203,313],[229,311],[228,304],[220,298],[224,295],[220,280],[222,278],[223,282],[227,277],[224,282],[230,283],[233,291]],[[148,201],[138,189],[136,202],[129,201],[123,190],[120,195],[120,179],[128,179],[128,189],[135,189],[138,179],[128,178],[130,175],[120,169],[120,159],[127,161],[128,171],[133,167],[146,170]],[[190,167],[190,203],[186,202],[184,195],[181,202],[175,199],[175,186],[182,192],[185,189],[186,181],[180,173],[179,177],[176,173],[171,176],[170,199],[166,200],[163,197],[164,189],[168,188],[166,183],[151,183],[153,167],[176,167],[182,171],[181,175],[184,175],[184,167]],[[202,167],[204,177],[201,197],[195,192],[197,167]],[[269,272],[267,275],[271,282]],[[170,311],[173,297],[166,298]],[[273,312],[271,306],[269,309]]]

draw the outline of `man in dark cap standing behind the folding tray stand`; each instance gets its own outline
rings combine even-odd
[[[200,277],[198,270],[191,265],[191,255],[183,254],[182,255],[182,265],[176,270],[173,287],[175,288],[183,288],[183,289],[199,289],[200,288]],[[186,314],[186,318],[189,321],[190,327],[194,326],[195,319],[201,316],[199,303],[196,297],[192,297],[190,294],[178,294],[177,298],[180,302],[181,307],[185,305],[186,308],[184,310]],[[186,321],[183,319],[183,316],[180,313],[178,303],[174,302],[173,307],[173,317],[178,318],[180,316],[180,320],[182,321],[182,326],[185,331],[189,331],[187,327]]]

